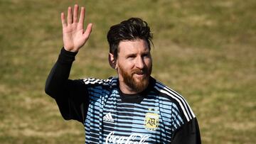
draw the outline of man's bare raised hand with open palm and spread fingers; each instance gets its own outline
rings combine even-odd
[[[89,23],[84,30],[85,8],[81,8],[79,20],[78,11],[79,6],[77,4],[74,6],[73,12],[69,6],[67,21],[65,21],[65,14],[61,13],[64,48],[70,52],[78,52],[82,45],[85,45],[92,32],[92,23]]]

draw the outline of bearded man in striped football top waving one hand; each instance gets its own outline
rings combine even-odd
[[[201,143],[196,116],[183,97],[150,76],[150,28],[129,18],[110,28],[110,66],[117,77],[68,79],[75,55],[88,40],[85,8],[61,13],[64,47],[46,81],[65,120],[85,127],[85,143]]]

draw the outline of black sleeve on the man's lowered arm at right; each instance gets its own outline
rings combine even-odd
[[[196,118],[184,123],[172,137],[171,144],[201,144],[201,136]]]

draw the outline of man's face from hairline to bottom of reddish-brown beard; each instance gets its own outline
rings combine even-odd
[[[142,92],[149,84],[151,53],[145,40],[121,41],[117,54],[117,73],[122,90]]]

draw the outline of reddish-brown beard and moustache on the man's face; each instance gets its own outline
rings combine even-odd
[[[135,69],[132,70],[131,73],[126,72],[123,67],[119,65],[120,74],[124,79],[124,83],[127,84],[135,92],[142,92],[149,85],[149,76],[152,71],[152,66],[145,67],[144,69]],[[144,74],[143,77],[139,77],[139,79],[133,77],[134,74]]]

